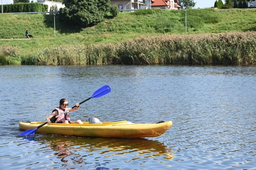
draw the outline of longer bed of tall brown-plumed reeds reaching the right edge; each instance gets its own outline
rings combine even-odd
[[[256,64],[256,32],[140,37],[119,44],[59,45],[23,64]]]

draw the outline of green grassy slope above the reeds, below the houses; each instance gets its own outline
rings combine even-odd
[[[185,34],[184,10],[153,10],[152,14],[121,12],[93,27],[77,28],[61,24],[55,16],[45,14],[0,14],[0,45],[21,47],[22,55],[58,44],[117,43],[138,36]],[[187,33],[221,33],[256,31],[256,9],[189,9]],[[216,20],[216,21],[212,21]],[[26,28],[33,39],[23,39]],[[105,32],[107,36],[101,36]]]

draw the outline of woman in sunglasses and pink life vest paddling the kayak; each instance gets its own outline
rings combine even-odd
[[[70,108],[68,108],[68,100],[67,99],[61,99],[60,100],[60,106],[59,107],[56,107],[51,115],[46,118],[46,122],[50,123],[50,119],[54,116],[58,116],[59,114],[63,113],[65,110],[68,110]],[[73,109],[70,109],[69,111],[67,111],[66,113],[60,115],[57,120],[54,122],[54,123],[66,123],[66,124],[69,124],[70,123],[70,118],[69,118],[69,112],[71,111],[75,111],[75,110],[78,110],[79,109],[79,103],[76,103],[76,107],[73,108]],[[83,124],[83,122],[81,120],[77,120],[74,122],[75,124]]]

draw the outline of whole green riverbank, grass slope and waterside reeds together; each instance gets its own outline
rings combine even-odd
[[[83,28],[56,15],[56,37],[53,15],[1,14],[0,63],[255,64],[255,12],[187,9],[187,33],[184,10],[120,12]]]

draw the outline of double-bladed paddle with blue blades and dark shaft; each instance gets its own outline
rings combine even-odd
[[[101,97],[101,96],[103,96],[103,95],[109,93],[110,91],[111,91],[111,89],[110,89],[110,87],[109,87],[108,85],[102,86],[101,88],[99,88],[98,90],[96,90],[96,91],[92,94],[91,97],[89,97],[88,99],[86,99],[86,100],[82,101],[81,103],[79,103],[79,105],[83,104],[84,102],[88,101],[88,100],[91,99],[91,98],[98,98],[98,97]],[[69,110],[71,110],[71,109],[73,109],[73,108],[75,108],[75,107],[76,107],[76,106],[73,106],[72,108],[70,108],[70,109],[64,111],[63,113],[57,115],[56,117],[55,117],[55,116],[52,117],[52,118],[50,119],[50,121],[51,121],[51,122],[55,122],[56,119],[57,119],[60,115],[62,115],[62,114],[64,114],[64,113],[68,112]],[[44,126],[44,125],[46,125],[46,124],[47,124],[47,122],[45,122],[44,124],[38,126],[38,127],[35,128],[35,129],[26,130],[26,131],[20,133],[19,135],[20,135],[20,136],[33,135],[37,129],[39,129],[40,127],[42,127],[42,126]]]

